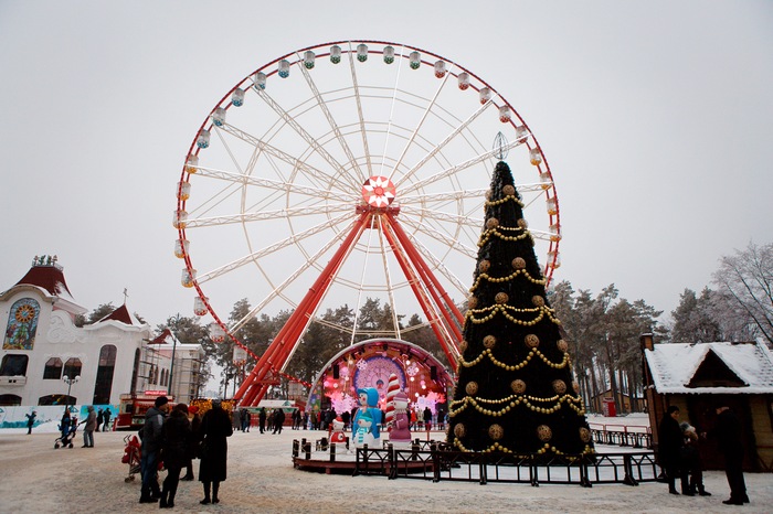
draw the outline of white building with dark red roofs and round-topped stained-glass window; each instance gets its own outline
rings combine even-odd
[[[117,405],[121,394],[169,392],[171,381],[178,401],[198,393],[192,384],[204,361],[200,345],[180,344],[168,332],[151,340],[150,325],[126,303],[75,326],[86,312],[56,257],[35,257],[27,275],[0,293],[0,405]]]

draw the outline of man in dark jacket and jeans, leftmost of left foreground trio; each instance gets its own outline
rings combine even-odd
[[[169,411],[169,398],[158,396],[153,406],[145,413],[145,425],[140,429],[140,470],[142,486],[139,493],[139,503],[155,503],[161,497],[158,486],[158,460],[163,441],[163,418]]]

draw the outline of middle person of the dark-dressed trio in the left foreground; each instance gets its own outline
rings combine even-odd
[[[180,483],[180,470],[190,462],[191,424],[188,421],[188,406],[177,404],[163,424],[161,459],[167,468],[167,478],[161,489],[160,508],[174,506],[174,494]]]

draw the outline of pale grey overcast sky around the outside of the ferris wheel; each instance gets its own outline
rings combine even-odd
[[[0,289],[55,254],[88,310],[127,288],[153,325],[192,315],[171,213],[202,119],[263,64],[347,39],[443,55],[516,107],[560,199],[555,280],[668,313],[773,240],[770,1],[0,0]]]

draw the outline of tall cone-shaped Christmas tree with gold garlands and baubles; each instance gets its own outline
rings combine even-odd
[[[510,168],[497,163],[465,318],[448,442],[463,451],[593,452],[560,321]]]

